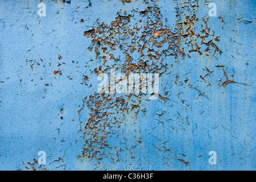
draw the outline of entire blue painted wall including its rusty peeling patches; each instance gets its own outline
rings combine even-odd
[[[0,169],[255,170],[256,3],[211,2],[1,1]],[[159,98],[98,93],[110,69]]]

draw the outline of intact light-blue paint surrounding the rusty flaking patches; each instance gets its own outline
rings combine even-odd
[[[159,90],[162,95],[163,88],[170,90],[169,100],[142,100],[146,117],[140,111],[138,120],[130,115],[127,125],[122,126],[127,142],[118,143],[115,135],[108,138],[110,146],[122,148],[120,162],[112,163],[106,158],[98,164],[95,160],[77,159],[84,144],[78,133],[78,106],[82,98],[97,92],[97,76],[90,70],[101,65],[99,61],[90,61],[95,60],[95,55],[87,49],[91,40],[84,36],[84,31],[97,26],[97,19],[110,24],[121,9],[127,13],[133,9],[143,11],[154,4],[167,19],[167,26],[174,28],[175,6],[182,1],[91,2],[92,6],[86,8],[88,1],[43,1],[46,17],[39,18],[39,1],[0,1],[0,169],[26,169],[27,162],[32,163],[38,159],[39,151],[45,151],[45,167],[49,170],[255,170],[256,3],[249,0],[211,1],[217,5],[217,17],[209,17],[208,27],[220,36],[216,44],[223,53],[216,53],[218,60],[196,53],[179,62],[174,56],[166,57],[164,63],[173,67],[163,75]],[[199,1],[199,5],[197,17],[208,18],[208,1]],[[218,18],[220,15],[224,22]],[[137,13],[133,19],[143,20],[143,16]],[[200,29],[201,24],[199,21],[196,26]],[[58,55],[63,58],[58,60]],[[65,64],[57,67],[58,62]],[[217,64],[225,65],[229,78],[235,72],[234,81],[248,85],[219,86],[218,80],[225,81],[225,76]],[[200,78],[207,73],[205,67],[213,71],[207,78],[212,86]],[[53,71],[59,69],[63,74],[54,75]],[[177,74],[178,81],[189,77],[188,82],[198,86],[209,99],[197,98],[196,89],[174,84]],[[83,75],[89,77],[87,84],[91,87],[82,83]],[[86,108],[80,119],[89,118]],[[164,113],[160,116],[164,127],[155,120],[159,119],[155,114],[159,111]],[[135,138],[141,134],[142,143],[138,144]],[[132,149],[131,158],[126,146],[135,144],[138,145]],[[164,153],[162,146],[171,148],[172,153]],[[208,152],[212,150],[217,152],[217,165],[208,164]],[[108,152],[110,149],[105,154]],[[56,161],[59,157],[61,160]]]

